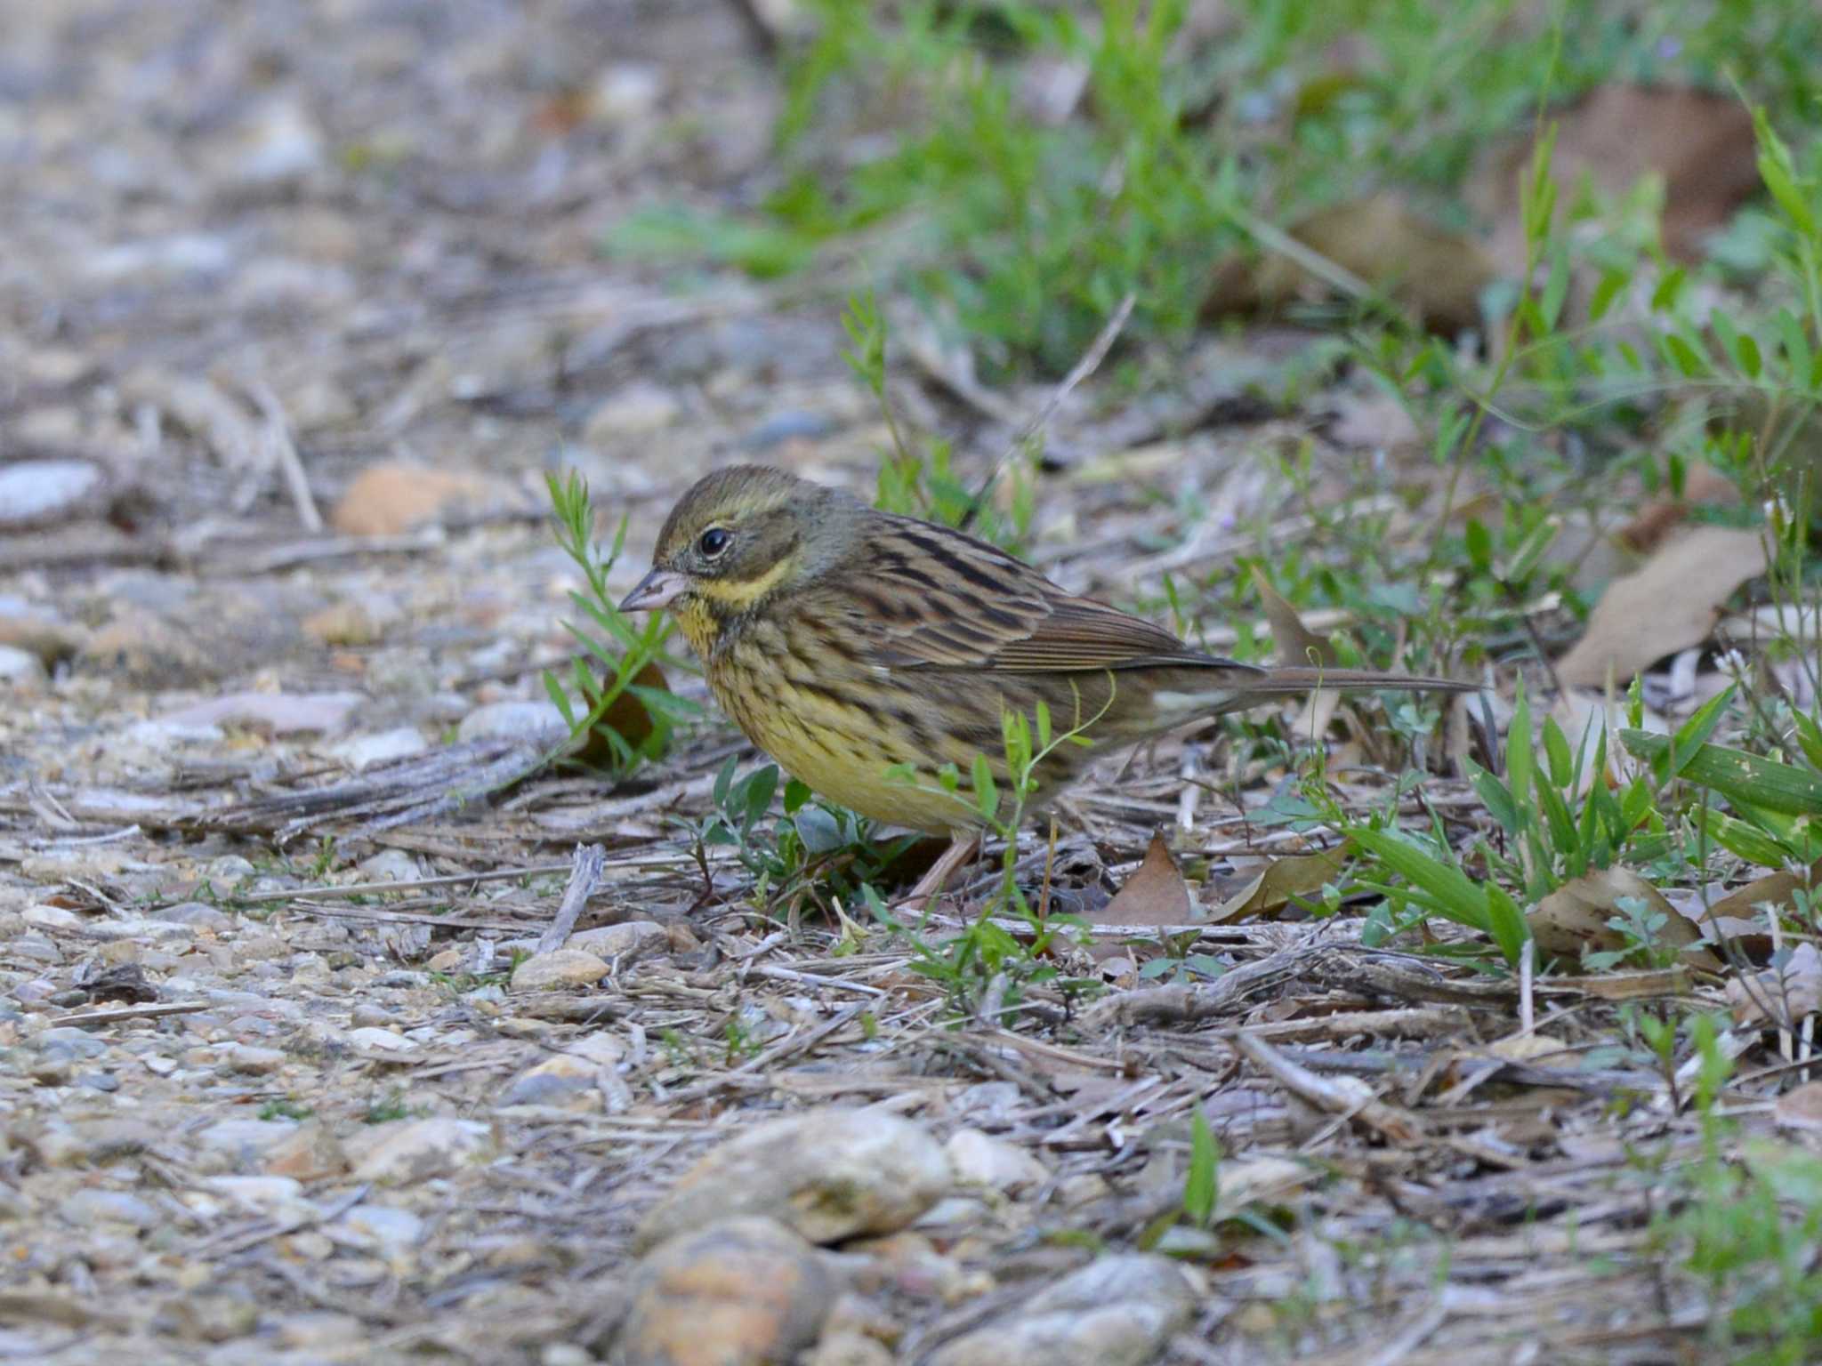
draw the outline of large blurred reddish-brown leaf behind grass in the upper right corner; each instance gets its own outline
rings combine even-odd
[[[1698,260],[1715,231],[1758,193],[1753,113],[1731,95],[1667,86],[1600,86],[1556,117],[1551,173],[1563,200],[1587,184],[1620,199],[1647,175],[1663,180],[1663,248]],[[1490,255],[1505,273],[1525,260],[1520,180],[1532,138],[1494,149],[1470,199],[1498,226]]]

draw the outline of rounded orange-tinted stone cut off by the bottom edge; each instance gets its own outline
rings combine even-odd
[[[670,1239],[627,1277],[612,1366],[765,1366],[809,1348],[836,1279],[771,1218],[732,1218]]]

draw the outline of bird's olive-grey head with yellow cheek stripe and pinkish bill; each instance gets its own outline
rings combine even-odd
[[[696,481],[658,534],[652,570],[621,612],[670,608],[700,647],[711,623],[751,612],[800,586],[845,550],[862,505],[763,464],[736,464]]]

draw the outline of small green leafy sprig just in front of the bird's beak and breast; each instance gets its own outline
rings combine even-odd
[[[581,645],[583,654],[570,661],[568,678],[545,672],[545,692],[563,714],[576,741],[596,734],[607,745],[612,767],[629,770],[645,759],[665,752],[676,723],[692,719],[698,707],[678,698],[665,687],[654,687],[654,668],[661,659],[681,667],[663,652],[672,623],[663,612],[652,612],[634,625],[614,603],[607,588],[619,552],[627,543],[627,519],[614,532],[614,545],[603,557],[594,543],[594,505],[589,483],[570,470],[565,475],[547,475],[550,510],[558,545],[583,574],[583,586],[570,592],[570,603],[599,634],[574,621],[565,628]],[[590,667],[592,665],[592,667]],[[598,672],[599,670],[599,672]],[[647,672],[650,670],[650,672]],[[627,701],[640,703],[629,707]],[[614,725],[614,721],[619,725]],[[623,729],[632,732],[623,734]],[[643,734],[640,734],[643,730]]]

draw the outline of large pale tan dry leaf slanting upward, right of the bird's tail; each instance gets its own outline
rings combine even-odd
[[[1733,590],[1764,570],[1758,532],[1693,526],[1607,585],[1556,676],[1569,687],[1602,688],[1611,670],[1623,687],[1653,661],[1705,641]]]

